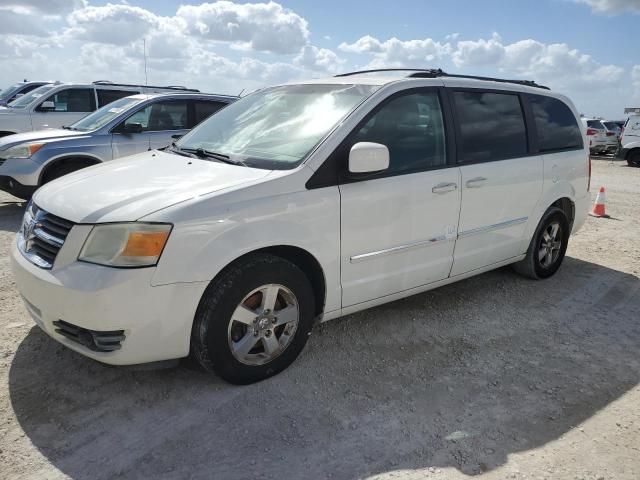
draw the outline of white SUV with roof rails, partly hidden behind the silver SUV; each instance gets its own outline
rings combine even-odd
[[[43,85],[0,107],[0,137],[71,125],[96,109],[137,93],[195,92],[185,87],[152,87],[99,80],[90,84]]]

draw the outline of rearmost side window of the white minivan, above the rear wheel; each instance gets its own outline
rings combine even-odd
[[[529,97],[541,152],[582,148],[582,133],[571,109],[557,98]]]

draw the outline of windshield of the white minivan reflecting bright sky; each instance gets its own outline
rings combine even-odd
[[[184,150],[208,150],[265,169],[299,165],[331,129],[378,89],[370,85],[285,85],[223,108],[182,137]]]

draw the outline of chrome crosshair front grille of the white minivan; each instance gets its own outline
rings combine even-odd
[[[73,226],[73,222],[31,203],[18,232],[18,248],[31,263],[51,268]]]

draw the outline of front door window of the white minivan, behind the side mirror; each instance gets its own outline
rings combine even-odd
[[[446,164],[440,100],[435,92],[396,97],[354,132],[350,147],[374,142],[389,149],[389,174],[425,170]]]

